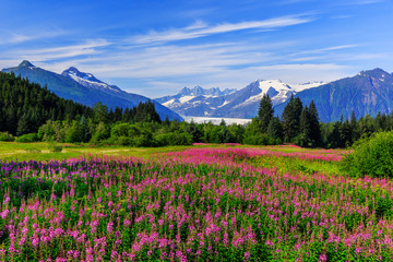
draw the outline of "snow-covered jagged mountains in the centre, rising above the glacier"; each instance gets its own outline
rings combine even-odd
[[[252,118],[257,115],[264,94],[270,95],[273,105],[278,105],[290,95],[322,84],[324,83],[312,82],[290,85],[279,80],[257,80],[240,91],[219,92],[219,88],[184,87],[175,96],[165,96],[156,100],[184,117]]]

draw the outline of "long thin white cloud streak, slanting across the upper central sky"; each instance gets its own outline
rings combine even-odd
[[[209,35],[223,34],[246,29],[274,29],[290,25],[303,24],[311,22],[310,17],[300,16],[283,16],[262,21],[249,21],[240,23],[223,23],[217,25],[209,25],[204,22],[196,22],[190,26],[182,28],[172,28],[164,32],[152,31],[146,35],[132,37],[130,40],[134,44],[150,44],[157,41],[175,41],[204,37]]]

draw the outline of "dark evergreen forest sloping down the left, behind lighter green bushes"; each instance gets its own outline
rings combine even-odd
[[[90,129],[94,130],[99,123],[160,122],[160,119],[152,102],[126,109],[117,107],[108,110],[100,103],[91,108],[60,98],[48,88],[13,73],[0,72],[0,132],[13,135],[35,133],[48,121],[90,123]]]

